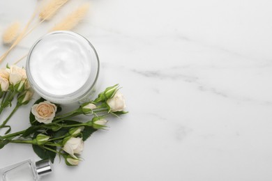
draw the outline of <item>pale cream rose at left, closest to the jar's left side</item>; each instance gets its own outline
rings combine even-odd
[[[24,68],[20,68],[17,65],[10,66],[10,84],[17,84],[19,81],[27,79],[27,72]]]

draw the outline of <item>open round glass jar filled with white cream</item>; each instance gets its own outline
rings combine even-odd
[[[70,104],[88,100],[98,79],[99,60],[91,42],[71,31],[40,38],[27,56],[27,77],[45,100]]]

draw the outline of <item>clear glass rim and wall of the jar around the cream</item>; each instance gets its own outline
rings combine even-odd
[[[84,40],[91,47],[93,51],[92,54],[95,57],[95,58],[92,58],[92,60],[90,60],[90,61],[93,61],[91,62],[91,64],[92,63],[96,64],[94,66],[93,65],[91,66],[91,72],[95,72],[95,78],[93,79],[93,77],[91,77],[90,75],[88,79],[86,80],[86,82],[80,88],[78,88],[77,91],[74,91],[73,93],[55,95],[52,93],[48,93],[47,91],[44,91],[43,88],[40,88],[40,86],[38,86],[38,84],[36,84],[36,82],[34,81],[33,76],[31,74],[31,68],[29,68],[31,63],[31,54],[33,50],[35,49],[36,45],[38,45],[38,43],[41,40],[47,38],[48,36],[52,36],[56,34],[62,34],[62,35],[66,34],[66,35],[74,36],[75,38],[80,38],[81,40]],[[72,102],[77,102],[78,100],[82,99],[86,95],[86,93],[89,93],[89,91],[93,89],[93,87],[96,84],[96,81],[98,80],[98,74],[100,70],[100,61],[99,61],[96,49],[93,47],[91,42],[87,40],[84,36],[78,33],[75,33],[73,31],[53,31],[51,33],[47,33],[44,36],[40,37],[32,45],[31,49],[29,50],[29,54],[27,55],[26,70],[27,70],[27,77],[29,79],[29,83],[31,84],[32,88],[36,91],[36,93],[38,93],[41,97],[45,98],[46,100],[52,101],[54,103],[68,104]]]

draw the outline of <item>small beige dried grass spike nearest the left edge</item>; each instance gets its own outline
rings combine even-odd
[[[17,36],[20,33],[20,23],[14,22],[13,24],[10,24],[6,31],[3,32],[3,43],[4,44],[10,44],[15,41]]]

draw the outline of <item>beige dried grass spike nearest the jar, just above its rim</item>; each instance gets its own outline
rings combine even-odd
[[[86,15],[89,10],[89,3],[84,3],[82,6],[73,11],[59,24],[56,24],[50,31],[70,30],[73,29],[80,20]]]

